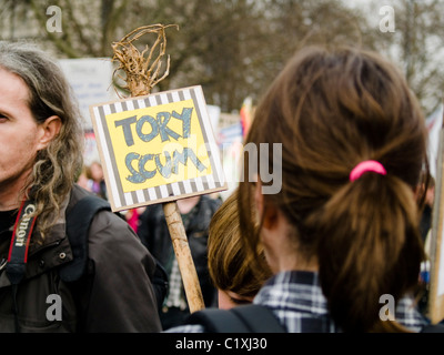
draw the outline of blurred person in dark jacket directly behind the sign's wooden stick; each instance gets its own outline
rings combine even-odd
[[[198,195],[178,200],[176,203],[186,232],[204,304],[206,307],[213,306],[216,304],[216,290],[209,275],[206,247],[210,221],[221,201],[209,195]],[[162,204],[147,206],[140,216],[138,234],[169,275],[169,293],[160,310],[162,326],[165,329],[181,324],[190,314],[190,308]]]

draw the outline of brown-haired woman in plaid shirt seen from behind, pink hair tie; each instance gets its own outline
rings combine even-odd
[[[246,144],[258,154],[244,155],[254,179],[239,186],[241,235],[273,272],[253,303],[286,332],[420,332],[426,128],[400,71],[364,50],[305,48],[259,103]]]

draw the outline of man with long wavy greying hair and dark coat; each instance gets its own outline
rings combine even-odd
[[[74,183],[82,140],[57,63],[0,42],[0,332],[161,331],[155,261],[122,219],[93,217],[75,270],[67,217],[89,194]]]

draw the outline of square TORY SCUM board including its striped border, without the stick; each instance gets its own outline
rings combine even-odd
[[[226,190],[201,87],[91,105],[113,211]]]

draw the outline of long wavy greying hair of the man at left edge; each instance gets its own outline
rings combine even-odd
[[[83,164],[81,115],[73,91],[57,62],[29,42],[0,41],[0,67],[20,77],[29,89],[28,104],[38,124],[51,115],[62,122],[59,134],[38,152],[23,193],[34,200],[42,235],[56,224]]]

